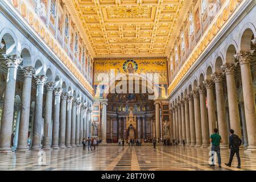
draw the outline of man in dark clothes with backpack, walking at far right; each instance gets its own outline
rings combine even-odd
[[[237,168],[241,168],[241,159],[239,154],[239,147],[242,144],[242,140],[234,134],[234,130],[230,129],[229,131],[229,150],[230,150],[230,156],[229,156],[229,163],[225,163],[226,166],[231,167],[231,163],[234,157],[234,154],[237,155],[237,161],[238,166]]]

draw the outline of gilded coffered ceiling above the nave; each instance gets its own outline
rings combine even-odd
[[[73,0],[95,57],[167,56],[188,0]]]

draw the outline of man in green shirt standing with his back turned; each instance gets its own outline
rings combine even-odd
[[[218,167],[221,168],[220,143],[222,143],[222,140],[218,134],[218,129],[214,129],[213,131],[214,134],[210,135],[210,142],[212,142],[212,164],[210,164],[210,167],[214,167],[214,154],[217,152]]]

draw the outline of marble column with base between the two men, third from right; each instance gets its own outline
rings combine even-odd
[[[228,148],[228,126],[226,123],[225,102],[222,79],[223,73],[213,73],[213,81],[216,88],[216,101],[218,113],[218,131],[222,138],[221,148]]]

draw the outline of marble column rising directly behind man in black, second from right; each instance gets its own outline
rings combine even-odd
[[[237,102],[237,89],[235,74],[237,63],[226,63],[222,66],[223,71],[226,73],[226,87],[228,89],[228,102],[229,102],[229,121],[230,129],[233,129],[238,137],[242,137],[240,116]],[[228,118],[227,118],[228,119]]]

